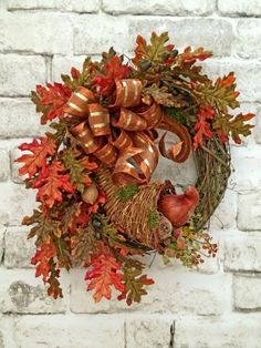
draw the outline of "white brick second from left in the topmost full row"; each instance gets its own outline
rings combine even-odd
[[[81,16],[74,24],[74,54],[101,53],[112,45],[124,53],[129,40],[126,18]]]

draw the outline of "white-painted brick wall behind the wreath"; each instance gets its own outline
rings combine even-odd
[[[261,347],[261,2],[259,0],[0,0],[0,348]],[[18,177],[17,145],[43,127],[30,103],[36,83],[58,81],[85,54],[128,53],[137,33],[168,30],[177,48],[213,51],[211,76],[234,70],[253,136],[232,146],[236,172],[212,222],[217,259],[188,270],[157,257],[140,305],[93,303],[83,270],[64,273],[64,298],[48,298],[20,226],[34,193]],[[155,176],[195,180],[192,163],[161,161]],[[147,265],[150,263],[147,258]],[[175,329],[170,335],[170,326]]]

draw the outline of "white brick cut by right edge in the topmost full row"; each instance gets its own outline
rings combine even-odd
[[[260,19],[241,19],[237,27],[237,54],[242,58],[260,58]]]

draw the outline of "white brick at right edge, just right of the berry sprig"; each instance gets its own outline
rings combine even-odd
[[[261,272],[261,238],[240,236],[225,240],[225,270]]]

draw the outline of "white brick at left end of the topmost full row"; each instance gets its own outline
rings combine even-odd
[[[55,28],[55,32],[54,32]],[[72,25],[59,13],[11,13],[0,18],[0,51],[29,53],[72,52]]]

